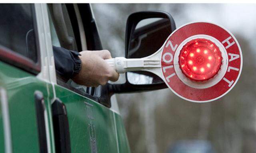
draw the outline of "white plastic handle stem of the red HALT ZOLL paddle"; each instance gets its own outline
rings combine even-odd
[[[148,58],[126,59],[124,57],[116,57],[113,59],[105,59],[105,61],[110,65],[110,67],[116,70],[117,73],[141,71],[144,69],[161,67],[160,60]]]

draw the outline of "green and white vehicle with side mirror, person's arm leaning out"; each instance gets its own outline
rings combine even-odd
[[[164,82],[138,71],[94,88],[56,75],[53,45],[102,49],[90,4],[0,4],[0,12],[0,153],[129,153],[114,94],[166,88]],[[162,19],[136,28],[147,18]],[[152,54],[175,28],[165,12],[130,15],[126,58]],[[132,82],[141,76],[150,82]]]

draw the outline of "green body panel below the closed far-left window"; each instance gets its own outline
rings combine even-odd
[[[0,68],[0,87],[4,88],[7,94],[12,151],[14,153],[38,152],[34,92],[42,92],[47,107],[50,104],[48,88],[51,84],[6,63],[0,62]]]

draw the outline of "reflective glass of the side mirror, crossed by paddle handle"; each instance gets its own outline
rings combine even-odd
[[[165,18],[148,18],[141,20],[131,33],[128,58],[142,58],[152,55],[171,33],[170,20]],[[127,72],[131,84],[159,84],[164,81],[147,71]]]

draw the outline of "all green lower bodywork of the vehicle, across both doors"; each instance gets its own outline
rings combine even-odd
[[[52,84],[16,67],[0,62],[0,87],[8,97],[12,151],[39,152],[34,92],[44,95],[48,116],[51,116]],[[129,153],[126,131],[119,114],[85,96],[55,85],[56,97],[66,106],[72,153]],[[3,118],[0,116],[0,152],[4,152]],[[52,119],[48,118],[49,128]],[[54,151],[54,133],[49,130]]]

